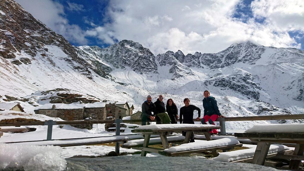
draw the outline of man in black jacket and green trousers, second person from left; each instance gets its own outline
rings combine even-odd
[[[155,113],[156,114],[156,124],[170,124],[171,120],[170,117],[168,116],[165,109],[165,103],[163,102],[163,95],[159,95],[158,99],[156,100],[156,102],[154,102],[155,104]]]

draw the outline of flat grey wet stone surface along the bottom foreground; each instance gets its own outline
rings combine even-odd
[[[249,163],[228,163],[195,157],[139,157],[117,156],[102,158],[68,158],[67,170],[90,171],[151,171],[151,170],[225,170],[225,171],[275,171],[278,169]]]

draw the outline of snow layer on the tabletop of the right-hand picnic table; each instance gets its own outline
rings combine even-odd
[[[247,133],[289,132],[304,133],[304,124],[256,124],[247,129]]]

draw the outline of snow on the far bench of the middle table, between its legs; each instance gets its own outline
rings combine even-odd
[[[179,136],[168,136],[167,137],[168,142],[182,142],[185,140],[185,137],[182,135]],[[143,146],[143,139],[139,140],[131,140],[126,143],[124,143],[121,147],[122,148],[133,148],[133,147],[140,147]],[[161,144],[161,138],[150,138],[149,145],[156,145],[156,144]]]

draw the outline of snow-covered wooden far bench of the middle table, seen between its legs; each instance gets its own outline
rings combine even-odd
[[[168,139],[168,143],[182,143],[185,140],[184,136],[171,136],[171,137],[167,137]],[[171,140],[174,139],[174,140]],[[154,141],[157,140],[157,141]],[[131,140],[133,141],[133,140]],[[161,144],[161,138],[151,138],[150,141],[154,141],[154,142],[149,142],[149,145],[157,145],[157,144]],[[138,147],[142,147],[144,143],[144,139],[142,139],[140,141],[140,143],[136,144],[136,145],[127,145],[127,143],[123,144],[121,147],[122,148],[133,148],[133,149],[139,149]],[[173,146],[173,145],[172,145]]]

